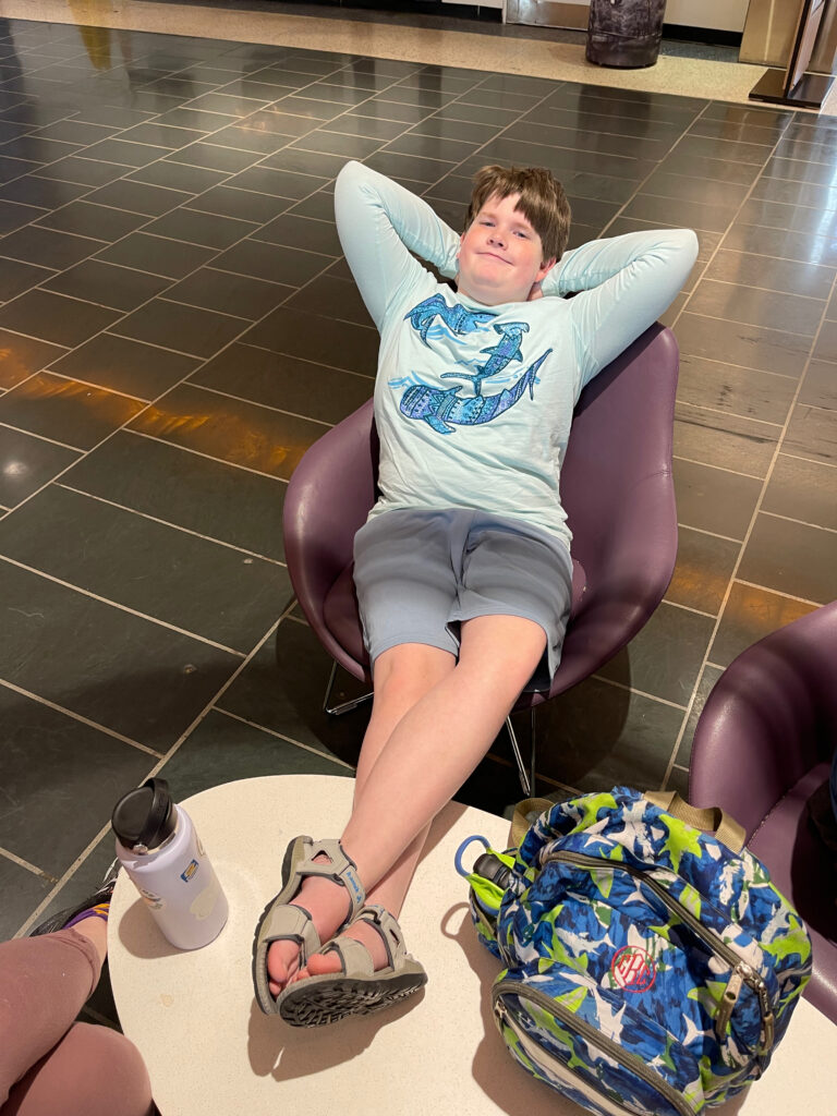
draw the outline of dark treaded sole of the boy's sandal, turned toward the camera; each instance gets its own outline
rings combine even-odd
[[[316,979],[316,978],[315,978]],[[308,983],[308,982],[306,982]],[[386,980],[323,979],[315,988],[292,990],[281,1001],[279,1013],[291,1027],[323,1027],[348,1016],[368,1016],[414,995],[427,983],[426,973],[403,973]]]

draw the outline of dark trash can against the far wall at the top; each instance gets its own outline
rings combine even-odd
[[[664,15],[665,0],[590,0],[587,61],[624,69],[653,66]]]

